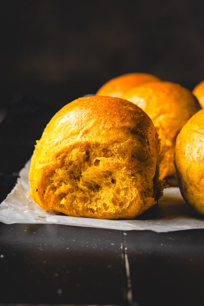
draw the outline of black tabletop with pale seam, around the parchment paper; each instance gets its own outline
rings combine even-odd
[[[0,202],[50,118],[86,93],[70,94],[65,86],[36,88],[2,106]],[[204,230],[1,223],[0,269],[2,304],[199,306],[204,304]]]

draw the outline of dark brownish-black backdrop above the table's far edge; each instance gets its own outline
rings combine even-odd
[[[2,82],[86,94],[120,74],[147,72],[192,89],[204,79],[203,12],[204,2],[192,0],[5,1]]]

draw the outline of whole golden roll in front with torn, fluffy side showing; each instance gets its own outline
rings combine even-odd
[[[91,96],[65,105],[35,146],[30,196],[46,211],[131,219],[154,205],[160,144],[138,106]]]

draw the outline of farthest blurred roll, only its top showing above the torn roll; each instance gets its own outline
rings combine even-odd
[[[109,80],[100,89],[96,95],[121,98],[128,90],[148,82],[157,82],[160,79],[147,73],[127,73]]]

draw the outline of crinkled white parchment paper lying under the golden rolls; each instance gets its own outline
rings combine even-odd
[[[31,200],[28,193],[30,160],[20,171],[16,186],[0,205],[0,221],[11,223],[54,223],[72,226],[98,227],[113,230],[152,230],[169,232],[176,230],[203,229],[204,219],[184,202],[178,187],[164,190],[158,204],[134,220],[100,220],[60,215],[43,211]]]

